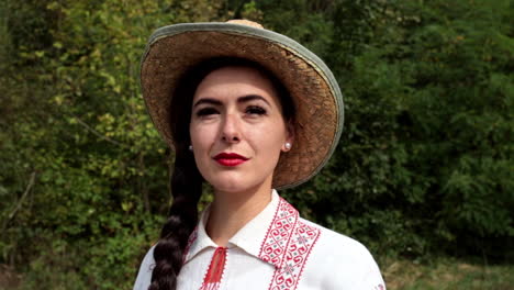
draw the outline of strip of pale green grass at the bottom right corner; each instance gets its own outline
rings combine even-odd
[[[514,290],[514,265],[487,266],[449,258],[424,264],[394,260],[382,266],[389,290]]]

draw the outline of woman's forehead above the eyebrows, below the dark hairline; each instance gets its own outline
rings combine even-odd
[[[252,67],[228,66],[213,70],[198,86],[194,99],[202,97],[225,99],[247,94],[258,94],[280,105],[271,80]]]

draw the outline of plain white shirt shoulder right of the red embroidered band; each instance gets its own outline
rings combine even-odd
[[[386,289],[377,263],[361,243],[304,219],[300,222],[320,234],[309,258],[312,274],[305,275],[322,289]]]

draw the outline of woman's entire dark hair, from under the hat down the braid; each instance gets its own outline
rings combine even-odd
[[[203,178],[194,156],[189,150],[189,122],[192,99],[197,87],[212,71],[226,66],[256,68],[272,83],[282,104],[282,115],[288,122],[294,115],[294,105],[283,85],[266,68],[243,58],[211,58],[186,71],[171,100],[171,134],[175,143],[175,167],[170,178],[172,203],[168,219],[154,248],[155,267],[148,290],[175,290],[182,268],[182,256],[189,236],[198,223],[198,202],[202,194]]]

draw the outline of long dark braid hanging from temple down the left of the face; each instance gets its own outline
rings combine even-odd
[[[203,178],[198,171],[194,156],[189,152],[190,108],[201,79],[188,77],[179,81],[171,99],[171,133],[175,143],[175,168],[170,178],[174,202],[160,239],[154,248],[155,268],[148,290],[176,290],[177,277],[182,268],[182,255],[189,236],[198,222],[198,201],[202,194]]]

